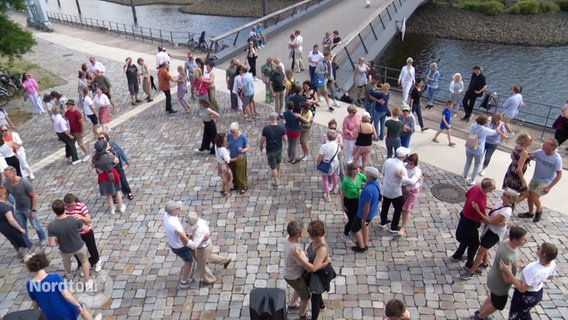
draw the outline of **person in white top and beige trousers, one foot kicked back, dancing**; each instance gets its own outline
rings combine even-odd
[[[187,241],[187,247],[194,252],[201,283],[212,284],[217,281],[217,278],[207,267],[207,262],[222,264],[223,268],[227,269],[232,259],[212,253],[213,243],[209,239],[211,231],[207,221],[201,219],[196,212],[190,212],[187,215],[187,222],[190,226],[190,238]]]

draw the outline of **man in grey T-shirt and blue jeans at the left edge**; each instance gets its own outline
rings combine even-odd
[[[43,231],[36,215],[36,194],[32,185],[27,180],[19,177],[16,173],[16,168],[12,166],[8,166],[4,169],[4,177],[6,177],[4,187],[14,197],[14,199],[16,199],[14,217],[18,221],[18,224],[26,230],[24,240],[26,241],[28,248],[32,247],[27,227],[27,221],[29,219],[32,227],[35,229],[39,237],[39,246],[42,250],[45,250],[47,247],[45,242],[45,232]]]

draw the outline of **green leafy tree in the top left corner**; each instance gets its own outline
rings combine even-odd
[[[8,15],[8,8],[26,10],[24,0],[0,0],[0,56],[19,57],[36,44],[31,32],[26,31]]]

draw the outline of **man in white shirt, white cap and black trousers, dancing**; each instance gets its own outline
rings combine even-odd
[[[398,233],[400,228],[398,222],[402,213],[404,199],[402,197],[402,179],[406,178],[406,168],[404,167],[404,159],[408,156],[410,150],[405,147],[396,149],[396,158],[390,158],[383,164],[383,206],[381,207],[381,228],[391,223],[390,233]],[[394,207],[392,222],[387,219],[390,204]]]

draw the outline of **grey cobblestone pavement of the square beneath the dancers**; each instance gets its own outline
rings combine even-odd
[[[75,70],[87,56],[39,42],[36,52],[26,58],[69,81],[58,90],[74,98]],[[439,202],[429,191],[436,183],[461,185],[459,176],[424,164],[425,183],[408,235],[393,238],[375,222],[370,250],[355,255],[339,239],[345,222],[339,199],[335,196],[330,203],[324,201],[321,179],[313,162],[283,165],[282,187],[278,191],[268,188],[265,155],[257,148],[265,121],[244,122],[241,116],[228,111],[228,97],[218,95],[223,111],[217,122],[218,130],[226,131],[229,123],[237,119],[251,145],[249,191],[245,195],[222,197],[218,192],[220,181],[214,158],[193,151],[202,134],[199,119],[182,113],[167,116],[164,102],[158,100],[133,114],[132,110],[147,106],[127,106],[121,64],[99,60],[115,85],[120,111],[113,115],[113,121],[121,117],[127,120],[116,125],[112,132],[112,138],[131,158],[126,172],[135,199],[126,202],[125,213],[109,214],[104,199],[98,196],[96,176],[88,164],[67,165],[61,153],[62,144],[55,138],[48,117],[35,116],[19,133],[30,163],[43,163],[33,181],[42,224],[46,226],[54,218],[49,209],[51,201],[67,192],[78,195],[94,217],[104,270],[97,277],[97,285],[99,293],[110,300],[102,303],[88,295],[75,294],[105,319],[248,318],[251,289],[286,288],[280,271],[285,225],[291,219],[304,224],[322,219],[326,224],[338,277],[332,282],[331,292],[324,295],[328,306],[323,312],[324,319],[380,319],[385,302],[393,297],[404,300],[417,319],[467,318],[485,299],[485,275],[464,282],[458,277],[461,265],[448,259],[456,248],[453,233],[461,206]],[[259,105],[264,119],[270,108]],[[180,109],[175,98],[174,108]],[[324,128],[315,125],[313,130],[315,138],[311,147],[318,150]],[[92,138],[88,138],[92,146]],[[55,151],[58,155],[53,156]],[[371,164],[381,166],[383,161],[384,149],[376,146]],[[214,251],[233,258],[234,263],[227,270],[214,269],[216,284],[199,287],[194,283],[189,290],[177,289],[181,261],[168,248],[161,223],[163,206],[169,199],[184,201],[184,214],[189,209],[196,210],[210,221]],[[497,194],[492,194],[491,201],[496,200]],[[559,247],[558,277],[545,285],[543,302],[533,314],[535,319],[568,318],[565,216],[546,212],[542,223],[527,224],[513,218],[511,224],[521,224],[529,231],[530,241],[521,249],[524,263],[534,260],[537,243],[550,241]],[[30,236],[37,240],[34,231],[30,231]],[[62,274],[57,249],[47,252],[52,260],[49,271]],[[29,275],[3,237],[0,253],[0,315],[30,308],[24,289]],[[504,315],[496,314],[496,318]],[[291,312],[289,318],[295,317],[297,311]]]

